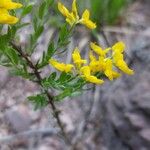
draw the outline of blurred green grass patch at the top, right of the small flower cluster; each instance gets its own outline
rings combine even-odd
[[[117,23],[122,12],[131,0],[78,0],[79,8],[89,6],[93,20],[100,25],[112,25]]]

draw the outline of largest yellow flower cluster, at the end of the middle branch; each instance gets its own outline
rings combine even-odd
[[[89,53],[89,63],[87,60],[82,59],[78,48],[72,53],[73,64],[59,63],[55,59],[50,59],[49,63],[59,71],[66,73],[76,73],[87,82],[102,84],[103,79],[96,77],[97,73],[105,75],[109,80],[113,80],[121,76],[117,70],[132,75],[134,71],[131,70],[124,61],[123,52],[125,44],[117,42],[112,47],[102,49],[95,43],[90,43],[91,51]]]

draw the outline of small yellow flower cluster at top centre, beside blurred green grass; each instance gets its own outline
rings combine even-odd
[[[66,21],[71,25],[83,24],[89,29],[95,29],[96,24],[90,20],[89,10],[85,10],[80,18],[77,11],[76,0],[73,0],[72,10],[69,11],[62,3],[58,2],[58,9],[63,16],[66,17]]]

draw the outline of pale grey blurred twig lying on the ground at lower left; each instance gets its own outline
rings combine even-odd
[[[34,129],[34,130],[24,131],[14,135],[0,137],[0,144],[14,142],[22,138],[28,139],[39,135],[52,136],[52,135],[56,135],[57,133],[58,131],[56,129],[50,129],[50,128]]]

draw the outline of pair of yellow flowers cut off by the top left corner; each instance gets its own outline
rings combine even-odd
[[[11,0],[0,0],[0,24],[15,24],[18,18],[11,16],[9,10],[22,7],[22,4]]]

